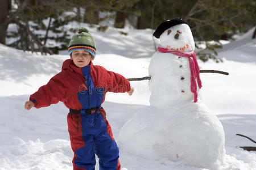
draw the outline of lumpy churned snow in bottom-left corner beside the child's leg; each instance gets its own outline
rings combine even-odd
[[[71,169],[70,142],[55,139],[45,143],[39,139],[24,142],[14,138],[13,144],[1,150],[2,169]],[[1,169],[0,168],[0,169]]]

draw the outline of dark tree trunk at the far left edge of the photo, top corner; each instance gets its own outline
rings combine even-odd
[[[11,8],[11,1],[10,0],[0,0],[0,43],[5,44],[6,33],[8,24],[5,22],[5,19],[8,15],[8,12]]]

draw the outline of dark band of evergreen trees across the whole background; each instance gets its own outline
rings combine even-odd
[[[6,0],[7,1],[7,0]],[[199,57],[216,59],[220,40],[230,40],[238,32],[255,26],[256,2],[253,0],[15,0],[7,23],[17,25],[18,32],[8,32],[14,48],[55,53],[67,49],[69,37],[64,26],[73,20],[96,26],[112,20],[113,26],[155,29],[164,20],[181,17],[189,23]],[[1,31],[1,30],[0,30]],[[75,32],[75,30],[69,30]],[[55,43],[51,43],[55,41]],[[204,44],[204,45],[201,45]],[[205,46],[205,48],[201,48]],[[216,59],[217,61],[217,59]]]

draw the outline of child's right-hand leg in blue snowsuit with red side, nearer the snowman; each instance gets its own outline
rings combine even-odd
[[[104,127],[101,133],[94,137],[95,152],[99,158],[100,170],[114,170],[121,169],[119,163],[119,148],[113,138],[112,129],[109,122],[106,120],[105,115],[100,114],[99,116],[101,124]]]

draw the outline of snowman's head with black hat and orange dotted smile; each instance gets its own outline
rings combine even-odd
[[[160,39],[160,46],[169,50],[192,52],[195,50],[195,41],[187,22],[181,18],[167,20],[161,23],[154,36]]]

